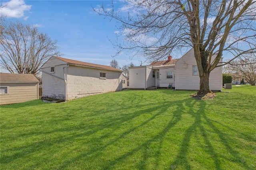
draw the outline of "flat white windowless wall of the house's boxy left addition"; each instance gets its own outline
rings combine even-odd
[[[129,88],[145,88],[145,66],[129,69]]]

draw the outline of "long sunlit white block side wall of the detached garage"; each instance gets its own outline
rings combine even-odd
[[[100,78],[100,72],[106,73],[106,78]],[[67,86],[68,100],[119,91],[122,90],[122,72],[70,65]]]

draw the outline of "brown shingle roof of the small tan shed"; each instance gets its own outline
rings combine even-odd
[[[0,73],[0,82],[39,82],[33,74]]]

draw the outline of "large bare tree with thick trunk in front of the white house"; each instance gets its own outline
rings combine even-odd
[[[209,75],[216,66],[256,51],[255,0],[128,0],[128,16],[95,9],[122,23],[124,41],[114,43],[116,54],[131,50],[159,60],[172,52],[194,49],[200,76],[198,94],[210,92]],[[108,7],[109,8],[109,7]],[[232,56],[221,62],[223,53]]]

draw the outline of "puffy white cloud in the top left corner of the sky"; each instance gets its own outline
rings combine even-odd
[[[9,18],[21,18],[24,16],[24,11],[30,10],[32,5],[26,5],[24,0],[10,0],[2,4],[1,16]],[[27,17],[24,18],[28,19]]]

